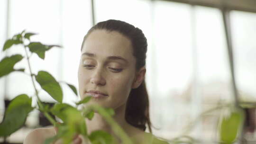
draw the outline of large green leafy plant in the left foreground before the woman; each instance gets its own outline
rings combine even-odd
[[[8,39],[4,46],[3,51],[8,50],[13,45],[22,45],[26,55],[14,54],[6,56],[0,61],[0,78],[8,75],[11,72],[25,72],[25,69],[14,69],[14,65],[26,58],[28,63],[28,71],[31,76],[31,81],[35,89],[35,95],[37,98],[37,107],[31,106],[32,97],[26,94],[20,94],[9,103],[8,108],[5,110],[4,118],[0,123],[0,137],[7,137],[21,128],[27,118],[29,112],[33,109],[38,109],[44,113],[45,117],[56,126],[58,129],[57,135],[51,137],[45,141],[45,144],[50,144],[55,140],[62,138],[64,144],[69,144],[74,134],[81,134],[85,139],[90,140],[92,144],[115,144],[115,139],[104,131],[94,131],[90,135],[87,133],[85,117],[91,119],[94,115],[94,111],[101,114],[102,117],[112,126],[113,131],[121,139],[123,144],[132,144],[128,135],[124,130],[114,121],[111,117],[114,114],[112,109],[102,108],[97,105],[92,105],[86,109],[78,110],[77,107],[63,103],[63,92],[60,86],[60,82],[57,81],[49,72],[39,71],[32,73],[30,65],[30,57],[32,54],[37,54],[39,58],[45,59],[46,51],[49,51],[53,47],[61,48],[59,45],[44,45],[40,42],[31,42],[30,36],[36,35],[35,33],[27,33],[23,30],[21,33]],[[30,54],[30,55],[29,55]],[[38,95],[38,90],[35,83],[38,83],[42,90],[45,90],[57,103],[50,107],[44,104]],[[66,82],[65,82],[66,83]],[[73,90],[74,94],[77,95],[76,88],[66,83],[68,87]],[[76,106],[87,103],[91,98],[86,97],[76,103]],[[55,121],[51,115],[59,117],[63,123],[59,124]],[[18,117],[18,118],[17,118]]]

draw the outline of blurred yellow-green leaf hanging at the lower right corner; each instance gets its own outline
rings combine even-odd
[[[220,140],[225,144],[235,142],[239,130],[243,124],[243,111],[233,111],[230,117],[223,117],[220,124]]]

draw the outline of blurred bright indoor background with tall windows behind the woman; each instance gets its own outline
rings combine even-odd
[[[256,102],[256,0],[0,0],[0,46],[24,29],[39,34],[32,41],[62,45],[46,52],[45,61],[32,55],[32,71],[46,70],[78,88],[83,36],[93,24],[108,19],[142,29],[148,40],[146,84],[154,135],[171,140],[203,111],[234,102],[227,37],[239,99]],[[24,54],[19,46],[1,51],[0,58],[17,53]],[[15,68],[24,65],[25,59]],[[78,100],[62,87],[64,102]],[[12,72],[0,78],[0,119],[8,101],[21,93],[35,93],[28,75]],[[39,95],[55,102],[43,90]],[[218,115],[202,117],[187,135],[213,143]],[[46,126],[39,116],[31,112],[26,125],[7,141],[22,143],[33,128]]]

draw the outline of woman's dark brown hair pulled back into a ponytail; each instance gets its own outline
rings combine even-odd
[[[141,67],[146,65],[147,41],[142,30],[120,20],[110,19],[102,21],[91,27],[88,33],[84,36],[82,47],[87,36],[89,36],[93,30],[97,29],[104,29],[110,32],[117,31],[128,37],[133,46],[133,55],[136,58],[136,70],[138,71]],[[125,119],[130,125],[140,128],[143,131],[146,130],[147,124],[149,131],[151,132],[149,101],[145,80],[137,89],[132,89],[130,91],[126,106]]]

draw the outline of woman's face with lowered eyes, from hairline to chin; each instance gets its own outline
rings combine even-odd
[[[116,31],[94,30],[86,38],[78,70],[81,99],[116,109],[124,105],[135,80],[136,59],[130,40]],[[107,96],[89,92],[100,91]]]

